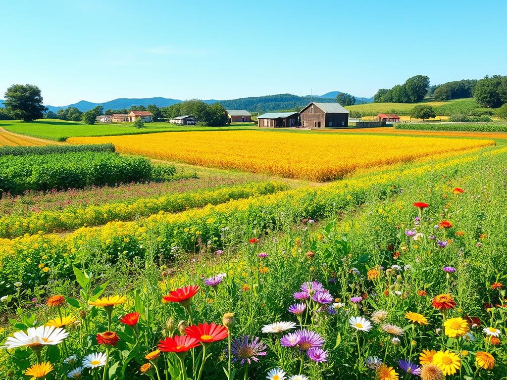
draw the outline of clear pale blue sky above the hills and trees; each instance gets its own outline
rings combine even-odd
[[[507,1],[0,0],[0,97],[232,99],[343,91],[370,97],[507,74]]]

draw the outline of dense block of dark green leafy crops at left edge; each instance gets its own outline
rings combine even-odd
[[[0,192],[102,186],[151,177],[150,161],[117,153],[78,152],[0,157]]]

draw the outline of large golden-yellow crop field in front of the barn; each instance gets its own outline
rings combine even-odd
[[[320,182],[360,168],[494,144],[475,139],[265,131],[169,132],[67,141],[112,142],[120,153]]]

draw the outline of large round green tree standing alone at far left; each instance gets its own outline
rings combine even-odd
[[[15,119],[29,122],[42,119],[48,108],[42,102],[41,89],[35,85],[12,85],[5,92],[5,107]]]

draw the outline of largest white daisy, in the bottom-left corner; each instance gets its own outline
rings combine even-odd
[[[68,336],[61,327],[39,326],[30,327],[27,332],[16,331],[13,336],[8,336],[3,348],[13,349],[17,347],[38,347],[45,345],[57,345]]]

